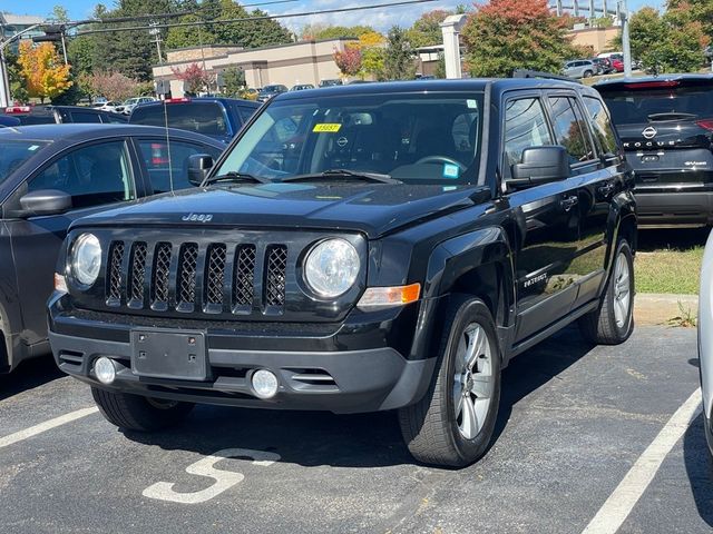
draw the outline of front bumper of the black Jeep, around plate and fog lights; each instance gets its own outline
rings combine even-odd
[[[339,343],[306,336],[293,339],[291,348],[284,343],[275,345],[277,330],[275,336],[267,332],[246,343],[245,337],[206,329],[209,368],[206,380],[148,378],[131,370],[134,356],[128,339],[131,325],[79,319],[76,315],[76,310],[62,305],[61,297],[50,300],[49,338],[59,368],[96,387],[157,398],[340,414],[378,412],[418,402],[428,389],[436,366],[436,358],[409,360],[394,346],[380,344],[388,339],[382,329],[389,324],[380,320],[362,325],[354,334],[358,339],[351,344],[335,334],[331,337],[340,339]],[[173,332],[182,328],[179,322],[173,323],[176,324]],[[394,324],[398,317],[391,326]],[[261,345],[263,348],[258,348]],[[119,369],[109,386],[97,382],[94,375],[92,365],[99,356],[114,359]],[[279,393],[271,399],[257,398],[252,388],[250,378],[257,369],[271,370],[279,378]]]

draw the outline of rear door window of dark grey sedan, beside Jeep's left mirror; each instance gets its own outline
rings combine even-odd
[[[137,142],[154,192],[194,187],[188,181],[188,158],[196,154],[208,154],[217,159],[221,155],[221,150],[209,145],[187,141],[172,140],[170,147],[163,138],[139,139]]]

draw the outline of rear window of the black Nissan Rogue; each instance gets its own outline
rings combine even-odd
[[[690,115],[691,119],[713,118],[713,88],[633,89],[602,96],[616,125],[647,123],[672,113],[672,118],[675,113]]]

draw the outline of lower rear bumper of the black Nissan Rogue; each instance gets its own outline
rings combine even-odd
[[[713,191],[636,189],[639,226],[713,224]]]

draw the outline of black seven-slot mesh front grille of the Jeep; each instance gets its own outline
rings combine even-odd
[[[286,280],[284,245],[115,240],[106,304],[211,315],[282,313]]]

